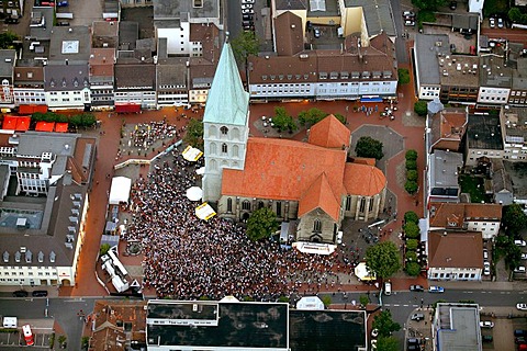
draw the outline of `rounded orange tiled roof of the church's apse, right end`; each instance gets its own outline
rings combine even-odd
[[[346,163],[344,186],[348,194],[373,196],[386,186],[386,177],[370,165]]]

